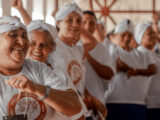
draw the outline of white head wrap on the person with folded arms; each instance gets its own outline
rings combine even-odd
[[[124,33],[124,32],[134,32],[134,25],[129,19],[124,19],[120,23],[118,23],[115,27],[114,33]]]

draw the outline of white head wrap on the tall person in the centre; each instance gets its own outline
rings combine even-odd
[[[82,11],[75,2],[64,5],[56,14],[56,21],[63,20],[70,13],[76,12],[82,16]]]

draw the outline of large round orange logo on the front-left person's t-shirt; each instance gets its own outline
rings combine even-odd
[[[34,94],[16,94],[8,103],[8,115],[27,114],[29,120],[43,120],[46,113],[46,105]]]

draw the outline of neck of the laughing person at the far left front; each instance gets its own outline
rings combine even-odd
[[[22,66],[19,67],[19,68],[6,68],[6,67],[3,67],[0,65],[0,73],[2,73],[3,75],[6,75],[6,76],[10,76],[10,75],[15,75],[17,73],[19,73],[22,69]]]

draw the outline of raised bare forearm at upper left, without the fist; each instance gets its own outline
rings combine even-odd
[[[22,16],[25,25],[28,25],[32,21],[28,12],[24,8],[18,9],[18,11],[20,12]]]

